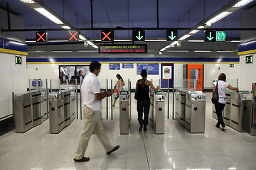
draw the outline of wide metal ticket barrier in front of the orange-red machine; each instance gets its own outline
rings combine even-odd
[[[188,132],[205,132],[206,94],[203,94],[202,91],[188,91],[186,93],[185,120]]]

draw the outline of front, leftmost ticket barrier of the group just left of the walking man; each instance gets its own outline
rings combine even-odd
[[[62,91],[53,91],[49,94],[49,122],[50,133],[59,133],[64,124],[64,96]]]

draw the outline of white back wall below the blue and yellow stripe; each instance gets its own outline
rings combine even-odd
[[[174,78],[182,79],[182,69],[183,64],[174,64]],[[28,64],[27,66],[27,87],[28,79],[58,79],[58,65],[64,64]],[[68,64],[67,64],[68,65]],[[218,75],[221,72],[224,72],[227,75],[227,80],[231,80],[236,83],[238,75],[240,72],[239,64],[234,64],[234,68],[229,68],[227,64],[204,64],[204,88],[211,89],[213,88],[213,80],[218,79]],[[36,70],[36,68],[38,68]],[[108,63],[102,64],[101,73],[99,79],[104,82],[104,79],[109,79],[109,88],[110,88],[110,79],[113,79],[113,85],[117,78],[116,74],[121,74],[124,81],[129,79],[132,81],[132,89],[134,89],[137,79],[141,79],[141,76],[137,75],[137,63],[134,63],[133,69],[123,69],[122,64],[120,70],[110,70]],[[161,78],[161,64],[159,64],[159,75],[149,75],[148,79],[153,79],[154,86],[159,85],[159,79]],[[104,84],[104,83],[102,83]],[[234,84],[231,84],[235,86]],[[102,86],[105,87],[105,86]]]

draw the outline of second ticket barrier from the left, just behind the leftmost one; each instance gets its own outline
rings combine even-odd
[[[43,123],[43,105],[41,98],[41,91],[33,90],[32,94],[32,105],[33,105],[33,127]]]

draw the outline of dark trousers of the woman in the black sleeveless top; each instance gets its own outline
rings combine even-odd
[[[150,101],[137,101],[137,112],[138,112],[138,121],[139,125],[146,128],[146,125],[149,125],[149,107]],[[144,113],[144,120],[143,120],[143,113]]]

